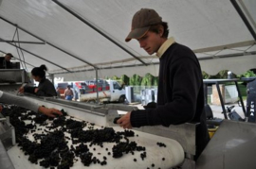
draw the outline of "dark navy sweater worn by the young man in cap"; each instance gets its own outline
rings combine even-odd
[[[200,123],[196,128],[196,158],[209,142],[204,112],[203,78],[198,59],[184,45],[172,44],[160,58],[157,107],[133,110],[133,127]]]

